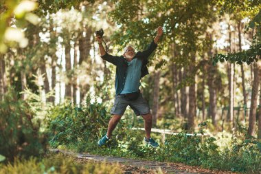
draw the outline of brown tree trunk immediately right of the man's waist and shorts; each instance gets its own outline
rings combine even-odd
[[[152,124],[157,124],[157,112],[159,109],[159,79],[161,72],[155,72],[154,76],[154,89],[153,89],[153,109],[152,109]]]

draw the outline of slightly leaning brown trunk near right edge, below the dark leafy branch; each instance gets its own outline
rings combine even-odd
[[[253,65],[254,65],[253,86],[252,86],[252,94],[251,94],[251,106],[250,106],[250,113],[249,113],[249,129],[248,129],[248,133],[251,136],[255,135],[256,109],[258,105],[258,101],[257,101],[258,87],[260,85],[260,76],[259,76],[260,65],[258,65],[256,62],[254,62]]]

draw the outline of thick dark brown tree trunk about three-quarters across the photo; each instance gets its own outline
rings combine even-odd
[[[196,61],[196,56],[192,55],[192,65],[190,65],[190,69],[193,69],[195,61]],[[195,116],[196,116],[196,82],[195,82],[195,76],[194,76],[192,85],[190,85],[190,91],[189,91],[188,127],[190,129],[194,129]]]

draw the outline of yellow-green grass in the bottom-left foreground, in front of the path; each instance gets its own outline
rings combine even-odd
[[[114,174],[124,173],[120,164],[106,164],[95,162],[80,162],[73,157],[58,155],[48,155],[43,159],[31,157],[29,160],[14,160],[7,164],[0,164],[1,174],[32,174],[32,173],[84,173],[84,174]]]

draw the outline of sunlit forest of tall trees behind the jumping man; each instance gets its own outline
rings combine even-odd
[[[71,101],[113,104],[115,67],[100,58],[144,50],[163,26],[141,91],[153,123],[182,118],[184,128],[211,119],[216,131],[239,124],[261,138],[261,2],[1,1],[0,98],[10,88],[43,109]],[[259,97],[259,98],[258,98]],[[259,105],[258,105],[259,104]]]

